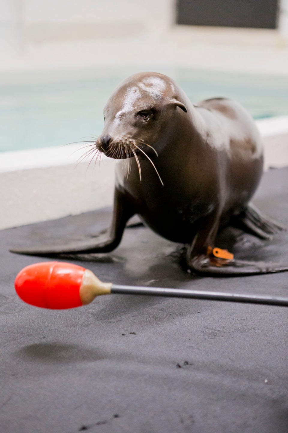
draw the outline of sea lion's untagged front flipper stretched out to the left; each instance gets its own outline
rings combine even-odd
[[[127,203],[125,195],[117,188],[114,192],[114,209],[110,229],[102,231],[98,235],[85,239],[76,239],[69,243],[54,245],[37,245],[23,247],[13,247],[11,252],[27,255],[53,256],[59,254],[79,254],[79,253],[104,253],[114,250],[120,243],[127,221],[135,213],[133,206]]]

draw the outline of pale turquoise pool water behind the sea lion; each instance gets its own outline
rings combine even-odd
[[[98,136],[103,107],[128,75],[117,70],[109,75],[97,71],[75,78],[67,73],[0,81],[0,151],[61,146],[83,136]],[[193,103],[224,96],[238,100],[255,119],[288,114],[285,78],[188,70],[173,71],[172,78]]]

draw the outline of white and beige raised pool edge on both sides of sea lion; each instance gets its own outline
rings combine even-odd
[[[265,169],[288,166],[288,116],[257,120]],[[0,153],[0,229],[108,206],[113,202],[115,160],[76,166],[79,145]]]

